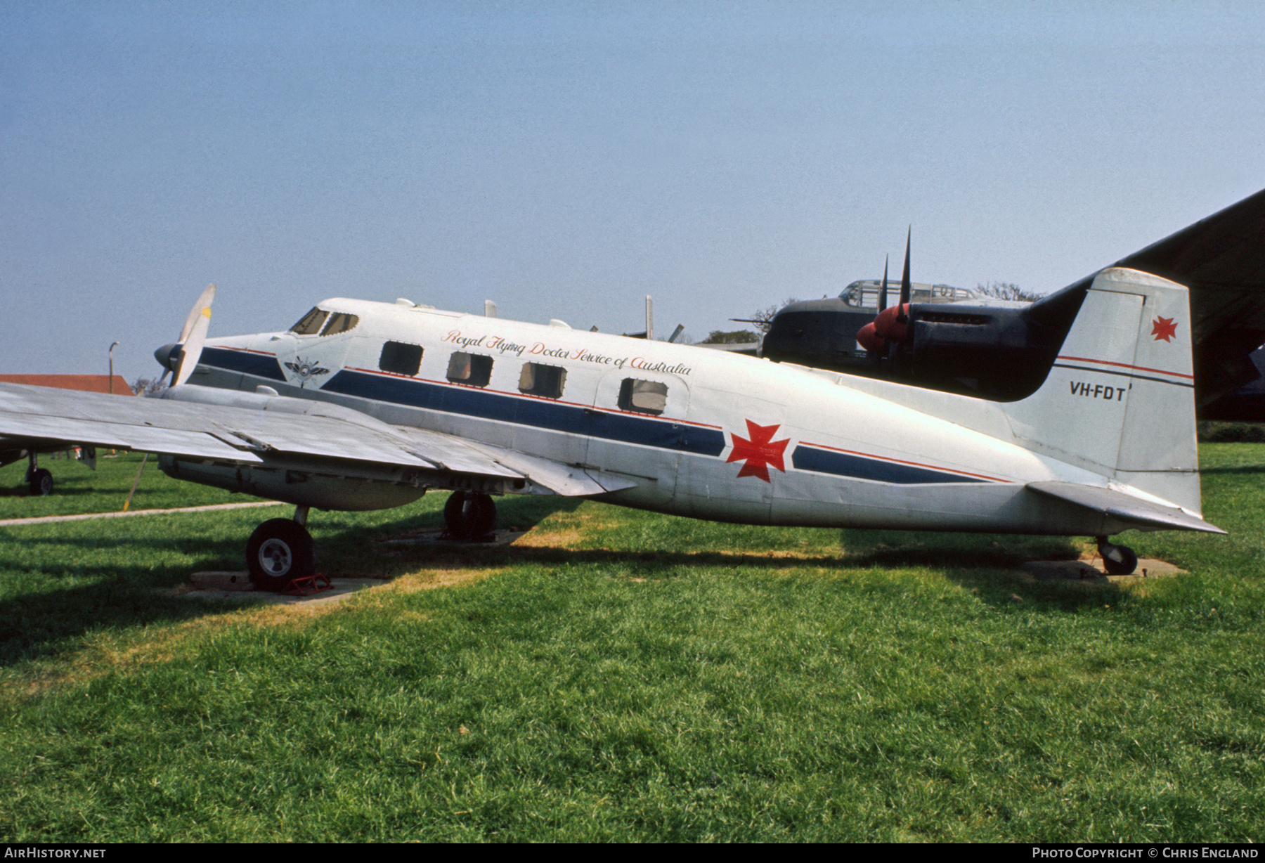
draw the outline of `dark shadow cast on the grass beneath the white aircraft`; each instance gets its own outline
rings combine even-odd
[[[557,512],[573,511],[581,499],[528,496],[505,499],[500,505],[500,523],[530,529]],[[1074,559],[1079,548],[1073,540],[1049,537],[987,537],[934,533],[845,530],[842,548],[837,552],[787,553],[759,550],[725,552],[716,548],[698,550],[632,550],[573,549],[559,545],[479,545],[429,542],[412,545],[386,545],[383,539],[401,534],[438,530],[443,514],[438,509],[424,512],[401,512],[401,518],[366,526],[354,514],[314,514],[309,526],[319,548],[318,568],[335,578],[372,577],[392,580],[425,568],[502,569],[512,566],[549,568],[598,566],[629,577],[674,578],[701,569],[759,569],[787,576],[818,577],[821,571],[867,568],[931,568],[966,588],[979,601],[1003,605],[1021,601],[1035,605],[1054,604],[1074,607],[1099,604],[1103,590],[1092,595],[1066,586],[1025,580],[1016,569],[1036,557]],[[135,628],[196,619],[225,610],[218,601],[190,601],[164,596],[157,587],[183,582],[199,569],[242,567],[245,535],[211,538],[200,535],[157,534],[153,537],[110,540],[101,537],[33,537],[22,538],[24,545],[48,544],[80,549],[77,557],[56,558],[25,571],[34,578],[48,578],[53,586],[0,600],[0,667],[38,657],[57,655],[78,648],[78,639],[91,630]],[[91,557],[94,549],[125,542],[134,549],[137,563],[106,562],[110,556]],[[177,550],[190,553],[194,561],[180,572],[145,562],[147,553]],[[87,554],[85,554],[87,552]],[[116,556],[115,556],[116,557]],[[149,561],[153,559],[151,554]],[[56,582],[73,574],[76,586]],[[893,588],[903,590],[893,582]],[[1070,604],[1070,605],[1069,605]]]

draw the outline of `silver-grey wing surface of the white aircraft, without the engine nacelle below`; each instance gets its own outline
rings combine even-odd
[[[366,414],[286,397],[186,387],[181,397],[116,396],[0,383],[0,449],[57,444],[115,447],[219,462],[258,464],[290,458],[407,468],[419,476],[492,477],[541,494],[600,495],[635,483],[476,444],[424,429],[387,425]],[[197,392],[205,391],[205,392]],[[231,404],[258,404],[256,409]]]

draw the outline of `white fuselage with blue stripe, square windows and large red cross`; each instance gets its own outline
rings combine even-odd
[[[824,375],[691,345],[331,299],[333,335],[207,340],[191,383],[328,400],[636,483],[603,500],[746,524],[1095,534],[1025,494],[1102,476]],[[969,401],[969,400],[968,400]],[[982,407],[983,409],[983,407]]]

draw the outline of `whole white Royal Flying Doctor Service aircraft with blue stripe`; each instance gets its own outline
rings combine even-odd
[[[493,495],[587,496],[768,525],[1089,535],[1223,533],[1200,515],[1188,291],[1093,280],[1045,383],[1002,404],[689,345],[331,299],[285,333],[204,340],[162,399],[0,385],[0,450],[121,447],[181,480],[296,506],[247,544],[253,581],[310,574],[310,507],[452,490],[454,537]]]

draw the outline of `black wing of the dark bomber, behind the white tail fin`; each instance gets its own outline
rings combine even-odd
[[[1265,190],[1111,266],[1190,289],[1199,405],[1256,380],[1249,354],[1265,343]],[[1070,290],[1088,287],[1093,278]]]

